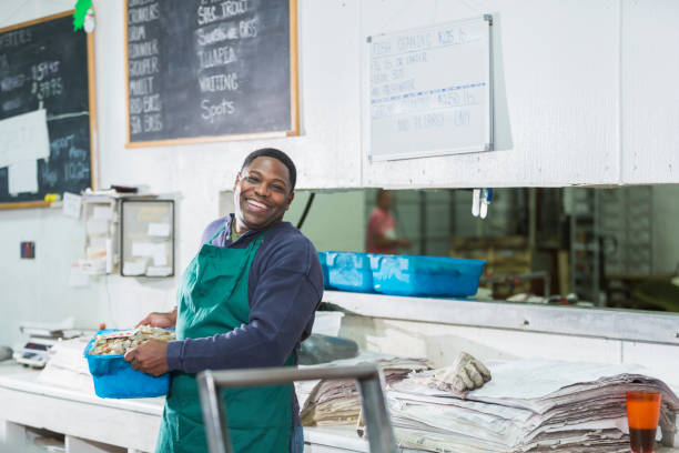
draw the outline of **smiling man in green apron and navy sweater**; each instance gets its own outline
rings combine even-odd
[[[323,274],[312,242],[282,221],[295,180],[295,165],[282,151],[247,155],[235,179],[235,214],[205,229],[182,276],[178,306],[141,320],[140,325],[175,326],[178,338],[125,354],[135,370],[172,372],[156,452],[207,451],[195,373],[296,364],[323,295]],[[292,383],[223,394],[235,452],[303,451]]]

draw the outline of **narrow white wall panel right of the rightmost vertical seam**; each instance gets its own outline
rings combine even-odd
[[[622,181],[679,181],[679,12],[675,0],[622,1]]]

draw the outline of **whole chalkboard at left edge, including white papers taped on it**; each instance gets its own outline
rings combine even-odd
[[[0,209],[93,185],[93,43],[72,14],[0,30]]]

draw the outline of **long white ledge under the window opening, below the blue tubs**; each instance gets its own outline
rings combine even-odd
[[[325,291],[362,316],[679,345],[679,313]]]

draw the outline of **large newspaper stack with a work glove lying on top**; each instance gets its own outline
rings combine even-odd
[[[432,452],[629,452],[625,392],[659,391],[660,425],[673,435],[679,399],[636,366],[547,360],[489,363],[493,380],[466,400],[430,386],[427,373],[387,391],[402,446]]]

